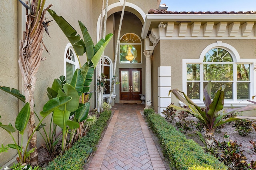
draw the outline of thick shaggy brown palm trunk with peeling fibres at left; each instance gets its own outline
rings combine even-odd
[[[24,80],[24,96],[26,101],[30,104],[30,118],[28,121],[28,138],[35,130],[35,117],[34,117],[34,90],[36,85],[35,74],[38,71],[39,65],[42,59],[42,52],[45,49],[42,41],[45,27],[43,25],[44,15],[48,8],[44,9],[45,0],[40,1],[38,4],[36,1],[32,1],[30,14],[28,9],[26,10],[26,30],[23,32],[23,39],[20,41],[19,59],[18,64],[20,72]],[[46,50],[47,51],[47,50]],[[29,141],[29,148],[34,148],[35,151],[30,154],[30,165],[38,165],[38,152],[36,149],[36,133]]]

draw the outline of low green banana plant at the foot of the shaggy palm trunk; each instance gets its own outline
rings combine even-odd
[[[44,111],[44,116],[42,118],[42,120],[38,123],[38,125],[36,126],[36,128],[34,129],[34,131],[32,132],[32,135],[36,132],[36,130],[38,129],[39,125],[42,123],[42,121],[44,120],[44,118],[49,115],[54,109],[66,104],[67,102],[69,102],[71,100],[71,97],[58,97],[58,98],[54,98],[52,100],[49,100],[43,108]],[[22,107],[22,109],[20,110],[18,116],[16,117],[16,121],[15,121],[15,128],[12,126],[12,124],[8,124],[8,125],[3,125],[2,122],[0,122],[0,127],[3,128],[4,130],[6,130],[12,140],[14,141],[14,144],[8,144],[5,147],[2,145],[2,148],[0,148],[0,152],[8,152],[9,148],[12,149],[16,149],[18,152],[18,158],[16,158],[16,160],[18,160],[19,164],[23,164],[28,162],[27,158],[29,158],[30,154],[32,152],[34,152],[34,148],[31,150],[28,150],[28,146],[29,146],[29,142],[32,138],[32,135],[30,136],[30,138],[28,139],[28,142],[26,143],[26,147],[25,149],[23,149],[23,137],[24,137],[24,130],[26,129],[27,125],[28,125],[28,120],[30,117],[30,106],[29,103],[27,102],[24,107]],[[0,116],[1,118],[1,116]],[[20,145],[18,145],[18,142],[14,139],[12,133],[19,131],[20,135],[21,135],[21,143]]]

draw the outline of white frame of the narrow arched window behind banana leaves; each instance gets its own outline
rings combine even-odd
[[[71,61],[71,60],[66,58],[68,49],[70,49],[72,51],[72,53],[74,55],[74,61]],[[76,71],[77,68],[80,68],[78,58],[76,56],[76,53],[75,53],[74,48],[72,47],[71,43],[68,43],[66,45],[65,52],[64,52],[64,76],[65,76],[65,78],[67,76],[67,66],[66,66],[67,63],[72,64],[72,65],[75,66],[74,72]],[[74,72],[73,72],[73,74],[74,74]]]

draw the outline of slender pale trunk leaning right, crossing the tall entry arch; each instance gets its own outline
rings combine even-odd
[[[123,8],[122,8],[122,13],[121,13],[121,18],[120,18],[120,22],[119,22],[117,40],[116,40],[116,53],[115,53],[114,70],[113,70],[114,76],[113,76],[112,82],[111,82],[111,90],[110,90],[108,105],[110,105],[110,102],[112,100],[112,95],[114,93],[114,85],[115,85],[115,80],[116,80],[116,61],[118,59],[117,55],[118,55],[118,49],[119,49],[119,39],[120,39],[121,27],[122,27],[122,22],[123,22],[123,18],[124,18],[125,2],[126,2],[126,0],[124,0],[124,4],[123,4]]]

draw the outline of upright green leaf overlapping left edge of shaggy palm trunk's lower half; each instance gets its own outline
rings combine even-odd
[[[28,120],[30,117],[30,106],[29,103],[26,103],[24,107],[20,110],[15,121],[15,128],[20,131],[20,134],[24,134],[24,130],[28,125]]]

